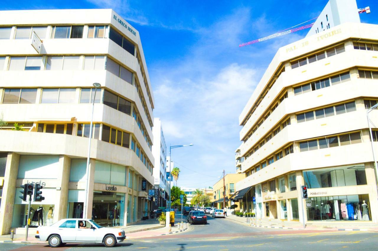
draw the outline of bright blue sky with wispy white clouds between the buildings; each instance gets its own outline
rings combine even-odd
[[[281,46],[308,30],[239,48],[317,17],[328,0],[2,0],[0,9],[112,8],[140,34],[162,121],[167,154],[181,169],[178,186],[213,186],[234,173],[239,115]],[[357,0],[361,22],[378,24],[376,0]]]

